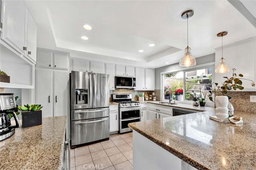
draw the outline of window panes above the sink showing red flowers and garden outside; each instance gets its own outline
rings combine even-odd
[[[212,85],[212,69],[212,66],[208,66],[208,68],[164,74],[163,99],[169,100],[171,97],[172,100],[192,101],[190,94],[196,93],[199,96],[202,95],[203,98],[205,96],[206,102],[211,102],[208,99],[208,94],[210,94]],[[169,91],[172,92],[172,95]]]

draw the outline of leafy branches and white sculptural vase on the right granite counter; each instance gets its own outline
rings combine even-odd
[[[224,117],[228,118],[232,115],[234,115],[234,107],[232,106],[232,104],[228,101],[230,100],[232,97],[228,96],[228,91],[230,90],[243,90],[244,87],[242,86],[242,80],[248,80],[252,82],[252,86],[255,86],[255,82],[246,78],[242,78],[243,74],[236,74],[236,68],[233,68],[233,73],[232,73],[232,77],[228,78],[228,77],[223,77],[226,78],[227,80],[225,80],[221,86],[218,85],[218,83],[213,83],[214,84],[214,88],[212,88],[212,91],[210,92],[210,94],[208,95],[209,99],[213,101],[212,95],[214,93],[217,93],[217,95],[219,95],[218,97],[216,96],[215,98],[215,105],[216,105],[216,116],[220,119],[225,119]],[[212,85],[213,85],[212,84]],[[223,104],[226,104],[227,106],[223,106]],[[228,111],[226,113],[226,111],[224,109],[220,109],[220,107],[227,107]]]

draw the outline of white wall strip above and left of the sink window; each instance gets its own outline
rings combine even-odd
[[[196,58],[197,66],[201,64],[212,63],[212,62],[215,62],[215,53]],[[193,67],[188,67],[188,69],[191,69],[191,68]],[[161,89],[161,72],[176,72],[184,69],[186,68],[180,67],[179,63],[155,68],[155,89]]]

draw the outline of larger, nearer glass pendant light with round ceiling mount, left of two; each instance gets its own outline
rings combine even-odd
[[[192,17],[194,15],[193,10],[188,10],[182,13],[181,18],[187,19],[187,43],[188,43],[188,18]],[[184,57],[180,59],[180,66],[182,67],[189,67],[189,66],[195,66],[196,65],[196,59],[191,55],[190,53],[191,48],[187,47],[185,48],[185,54]]]

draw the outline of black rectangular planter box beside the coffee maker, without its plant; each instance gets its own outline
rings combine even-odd
[[[22,112],[22,128],[42,125],[42,110]]]

